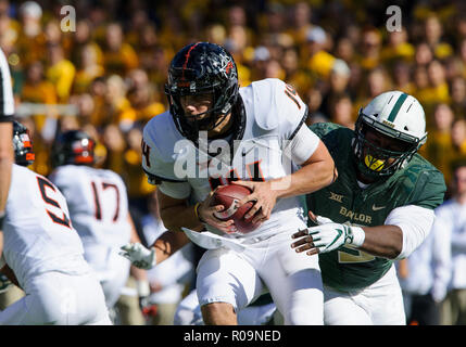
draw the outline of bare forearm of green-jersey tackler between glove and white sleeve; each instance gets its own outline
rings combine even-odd
[[[365,239],[358,249],[373,256],[394,259],[403,249],[403,231],[396,226],[363,227]]]

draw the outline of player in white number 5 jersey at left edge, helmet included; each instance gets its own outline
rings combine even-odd
[[[25,167],[34,154],[26,128],[16,121],[13,144],[16,164],[0,267],[26,295],[0,312],[0,325],[111,324],[102,287],[83,256],[65,197],[47,178]]]

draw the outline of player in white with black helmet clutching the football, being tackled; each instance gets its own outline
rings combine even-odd
[[[163,249],[189,235],[211,248],[197,278],[205,324],[236,324],[236,312],[266,290],[286,324],[322,324],[317,258],[302,257],[287,241],[305,226],[298,195],[330,184],[336,176],[326,146],[303,126],[306,105],[278,79],[239,88],[232,56],[209,42],[175,55],[165,92],[169,111],[144,128],[142,167],[159,184],[169,233],[149,253],[140,245],[124,247],[126,256],[139,266],[153,265]],[[252,190],[239,203],[255,202],[249,214],[257,228],[249,234],[214,216],[223,206],[210,206],[212,192],[228,183]]]

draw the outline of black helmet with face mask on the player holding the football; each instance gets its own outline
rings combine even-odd
[[[165,93],[178,131],[197,142],[199,131],[214,129],[231,112],[238,99],[238,70],[231,54],[210,42],[186,46],[172,60]],[[213,94],[213,106],[205,113],[209,116],[188,121],[180,97],[205,93]]]

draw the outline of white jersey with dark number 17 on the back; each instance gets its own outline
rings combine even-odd
[[[50,180],[66,197],[70,217],[86,253],[89,247],[119,248],[129,242],[128,197],[119,175],[89,166],[63,165],[53,170]]]

